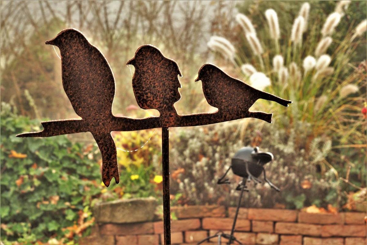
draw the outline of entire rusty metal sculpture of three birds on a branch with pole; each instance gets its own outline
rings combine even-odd
[[[209,104],[217,112],[178,115],[174,103],[181,98],[178,88],[181,76],[175,61],[163,56],[150,45],[138,48],[135,57],[127,62],[135,66],[132,87],[138,105],[157,109],[159,117],[142,119],[116,117],[112,114],[115,79],[102,53],[88,42],[83,33],[66,29],[47,41],[59,47],[62,62],[62,83],[75,112],[82,119],[42,122],[39,132],[18,134],[17,137],[51,137],[61,134],[91,132],[102,155],[102,180],[108,186],[113,177],[119,182],[116,146],[112,131],[132,131],[162,128],[163,220],[164,244],[170,244],[170,184],[169,184],[169,127],[199,126],[241,118],[258,118],[271,122],[272,114],[249,112],[259,98],[287,106],[291,101],[256,90],[240,80],[231,78],[210,64],[200,68],[197,80]]]

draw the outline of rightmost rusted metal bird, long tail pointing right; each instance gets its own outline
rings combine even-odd
[[[199,70],[199,76],[195,82],[201,80],[204,96],[208,103],[224,112],[247,112],[258,99],[275,101],[285,107],[291,103],[273,94],[269,94],[232,78],[212,64],[205,64]],[[250,116],[263,119],[264,112],[249,112]],[[271,120],[271,117],[270,117]]]

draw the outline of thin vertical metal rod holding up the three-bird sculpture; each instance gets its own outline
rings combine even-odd
[[[171,244],[170,143],[168,127],[162,128],[163,229],[164,244]]]

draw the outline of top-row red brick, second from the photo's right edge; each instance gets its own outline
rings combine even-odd
[[[344,224],[344,215],[342,213],[298,213],[299,223],[311,224]]]

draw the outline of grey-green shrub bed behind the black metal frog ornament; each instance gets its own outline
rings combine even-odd
[[[258,184],[245,194],[243,206],[273,208],[284,205],[299,209],[313,204],[326,208],[331,204],[341,209],[350,186],[341,182],[332,169],[323,176],[319,171],[320,163],[331,150],[330,138],[312,140],[311,148],[306,151],[299,148],[297,142],[308,141],[310,124],[293,122],[292,127],[279,127],[289,125],[287,118],[281,120],[263,124],[244,119],[179,130],[170,143],[171,194],[182,193],[183,203],[235,206],[239,197],[235,188],[241,179],[229,171],[229,186],[218,185],[217,180],[228,169],[237,150],[258,145],[262,151],[274,155],[274,161],[265,165],[266,175],[281,192],[270,189],[268,184]],[[247,126],[247,130],[243,130],[243,126]],[[361,172],[366,173],[366,168]],[[360,178],[365,179],[365,175]],[[356,177],[351,181],[361,179]]]

